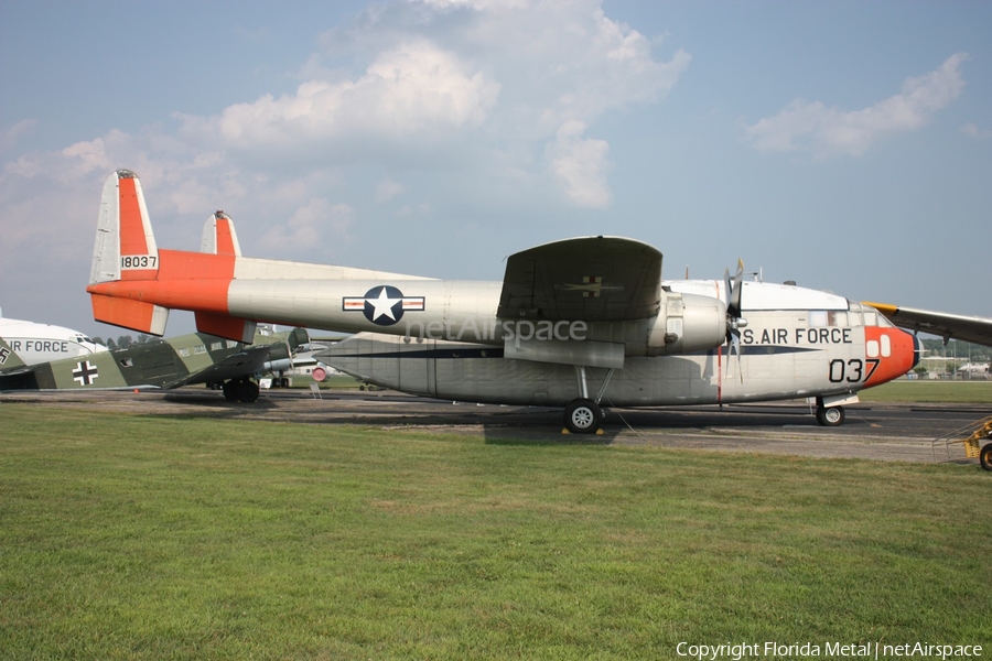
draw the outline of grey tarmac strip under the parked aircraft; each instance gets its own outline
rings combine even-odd
[[[817,424],[804,402],[664,409],[607,409],[600,435],[562,433],[560,409],[500,407],[431,400],[391,391],[263,391],[252,404],[228,402],[212,390],[61,391],[0,394],[6,402],[85,407],[143,415],[203,415],[273,420],[300,424],[360,424],[384,431],[412,430],[481,435],[502,444],[602,443],[655,445],[719,452],[843,457],[894,462],[966,459],[962,444],[941,441],[949,433],[992,415],[992,405],[855,404],[839,427]],[[2,408],[0,408],[2,411]],[[960,437],[960,436],[957,436]]]

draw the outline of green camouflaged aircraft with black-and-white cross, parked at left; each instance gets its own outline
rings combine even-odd
[[[194,333],[131,345],[111,351],[63,358],[0,370],[0,391],[172,389],[194,383],[219,384],[228,400],[254,402],[251,380],[292,367],[296,347],[309,342],[306,330],[273,333],[262,327],[254,346]]]

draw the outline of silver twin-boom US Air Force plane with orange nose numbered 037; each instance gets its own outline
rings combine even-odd
[[[207,231],[224,235],[215,214]],[[214,228],[211,229],[211,223]],[[217,240],[217,245],[222,241]],[[357,333],[322,360],[359,379],[463,401],[564,407],[594,432],[608,407],[810,398],[843,421],[856,392],[902,376],[916,338],[874,308],[787,284],[662,281],[640,241],[584,237],[507,258],[503,282],[159,249],[132,172],[104,185],[90,284],[97,321],[162,335],[169,310],[250,342],[259,322]]]

